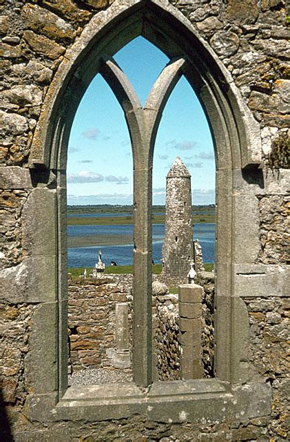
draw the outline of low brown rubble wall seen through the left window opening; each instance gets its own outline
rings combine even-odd
[[[111,367],[106,350],[116,347],[116,303],[126,301],[126,292],[113,278],[70,280],[68,338],[72,371]]]

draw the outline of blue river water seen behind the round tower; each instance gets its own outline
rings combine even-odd
[[[133,226],[68,226],[68,236],[90,235],[132,235]],[[160,263],[162,257],[165,224],[152,226],[152,259]],[[194,239],[198,238],[203,248],[204,262],[214,262],[215,224],[194,224]],[[105,265],[110,265],[111,260],[118,265],[132,264],[132,244],[114,246],[70,247],[68,249],[68,267],[94,267],[98,260],[99,249],[102,250],[102,260]]]

